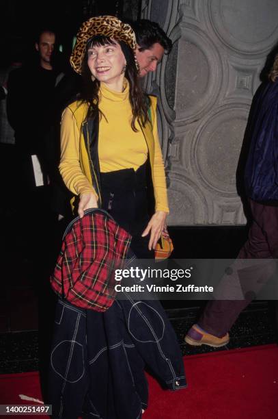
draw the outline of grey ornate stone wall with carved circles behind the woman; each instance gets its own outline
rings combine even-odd
[[[169,177],[170,225],[242,225],[236,167],[277,0],[150,0],[143,16],[174,44],[155,75]]]

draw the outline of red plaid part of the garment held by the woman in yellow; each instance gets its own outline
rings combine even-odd
[[[115,269],[122,268],[131,236],[102,210],[87,210],[69,227],[51,286],[73,305],[105,312],[115,299]]]

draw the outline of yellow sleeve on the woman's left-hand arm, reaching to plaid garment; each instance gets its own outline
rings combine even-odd
[[[61,117],[61,160],[59,170],[67,188],[76,195],[96,191],[89,182],[80,165],[81,127],[69,107]]]

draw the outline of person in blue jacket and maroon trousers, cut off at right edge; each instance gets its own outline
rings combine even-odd
[[[222,299],[208,302],[197,324],[186,334],[185,341],[194,346],[227,344],[228,332],[236,318],[276,269],[273,259],[278,257],[278,54],[268,81],[262,83],[253,98],[246,137],[249,151],[244,179],[252,218],[249,237],[232,266],[232,276],[223,278],[221,285],[225,281],[228,284],[226,294],[221,294],[224,290],[221,288]],[[241,259],[268,260],[252,262],[248,271],[246,260],[242,265],[245,269],[240,268]],[[238,275],[242,299],[235,294],[233,275]],[[250,281],[253,292],[245,292],[245,284]]]

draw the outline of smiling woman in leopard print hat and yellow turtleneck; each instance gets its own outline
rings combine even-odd
[[[70,105],[62,118],[60,170],[66,186],[79,195],[81,217],[88,208],[108,210],[133,235],[137,256],[150,257],[169,212],[156,99],[144,97],[139,88],[136,42],[129,25],[117,27],[115,18],[103,22],[100,30],[91,21],[83,24],[72,53],[72,66],[83,76],[85,88],[81,101]],[[107,30],[114,30],[113,38],[102,36]],[[91,155],[85,149],[88,142]],[[156,202],[150,220],[148,159]]]

